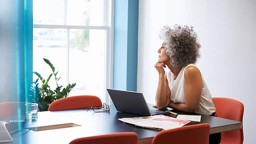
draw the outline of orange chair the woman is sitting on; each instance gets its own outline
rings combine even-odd
[[[221,132],[221,144],[242,144],[243,136],[243,103],[224,97],[213,97],[216,115],[220,118],[242,122],[242,128],[234,131]]]

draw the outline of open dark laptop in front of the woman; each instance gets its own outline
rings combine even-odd
[[[143,116],[168,113],[157,109],[149,109],[143,93],[125,90],[107,89],[115,108],[119,112],[133,113]]]

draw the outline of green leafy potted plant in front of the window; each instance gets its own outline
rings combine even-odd
[[[33,71],[33,74],[36,74],[36,76],[38,76],[38,79],[36,79],[36,81],[33,81],[30,90],[33,92],[33,102],[38,103],[39,110],[48,111],[49,105],[55,100],[67,97],[71,89],[76,86],[76,83],[68,84],[65,88],[63,88],[63,86],[58,84],[58,81],[61,78],[57,77],[58,71],[55,72],[55,67],[49,60],[47,60],[46,58],[43,59],[45,63],[47,63],[51,67],[52,73],[48,76],[47,79],[44,79],[41,74]],[[55,90],[51,90],[51,87],[48,85],[48,82],[52,76],[54,77],[57,85]],[[41,87],[39,87],[39,79],[42,81]]]

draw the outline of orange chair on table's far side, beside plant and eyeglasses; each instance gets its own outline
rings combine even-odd
[[[97,96],[70,96],[52,102],[48,111],[87,108],[86,103],[89,107],[102,106],[102,102]]]

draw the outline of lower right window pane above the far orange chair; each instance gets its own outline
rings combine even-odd
[[[95,95],[103,101],[105,30],[70,30],[70,96]]]

